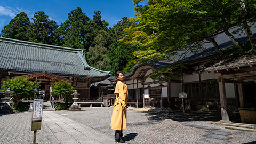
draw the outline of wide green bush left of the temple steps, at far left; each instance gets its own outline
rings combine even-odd
[[[3,83],[3,87],[5,90],[10,87],[13,92],[13,106],[18,107],[20,99],[35,98],[35,94],[39,89],[39,84],[40,83],[36,81],[29,81],[27,77],[17,77],[14,79],[7,77],[6,81]]]

